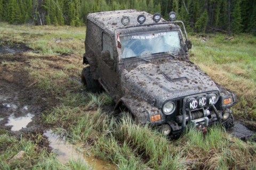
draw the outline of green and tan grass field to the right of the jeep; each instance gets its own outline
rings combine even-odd
[[[236,117],[256,120],[256,37],[239,35],[231,40],[226,37],[209,35],[205,42],[191,37],[194,46],[190,60],[214,81],[237,94],[238,103],[233,108]]]

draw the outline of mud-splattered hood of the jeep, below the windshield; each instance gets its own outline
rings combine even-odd
[[[179,60],[124,69],[121,81],[125,95],[142,98],[158,108],[166,100],[219,91],[211,78],[195,64]]]

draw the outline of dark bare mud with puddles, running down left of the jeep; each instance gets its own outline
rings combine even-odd
[[[45,96],[41,90],[33,87],[34,81],[23,69],[29,66],[29,58],[23,55],[27,50],[30,49],[24,46],[22,49],[0,46],[0,64],[15,62],[15,69],[4,64],[0,67],[0,129],[8,130],[17,136],[22,134],[23,138],[30,140],[36,140],[37,134],[43,134],[45,138],[35,143],[49,152],[55,152],[61,163],[65,164],[73,158],[90,164],[93,169],[116,169],[115,165],[90,155],[82,145],[84,151],[77,152],[75,146],[61,140],[49,130],[50,126],[40,121],[43,111],[57,105],[58,101],[54,101],[51,96]],[[51,60],[51,58],[45,59]],[[70,79],[81,84],[76,77]]]

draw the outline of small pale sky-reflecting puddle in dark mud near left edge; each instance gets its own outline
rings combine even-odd
[[[14,114],[11,114],[8,118],[8,123],[5,125],[12,126],[11,131],[19,131],[22,128],[27,128],[28,123],[32,121],[33,117],[34,115],[30,113],[23,117],[15,117]]]

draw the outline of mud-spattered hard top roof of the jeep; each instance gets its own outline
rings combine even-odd
[[[143,24],[139,24],[137,18],[140,14],[146,16],[146,21]],[[123,16],[128,16],[130,19],[129,25],[126,27],[133,27],[135,25],[145,25],[153,24],[153,15],[145,11],[138,10],[119,10],[119,11],[107,11],[107,12],[98,12],[90,13],[87,15],[87,19],[97,24],[100,28],[105,30],[108,33],[114,33],[116,29],[125,28],[121,23]],[[166,22],[164,19],[161,19],[159,22]]]

